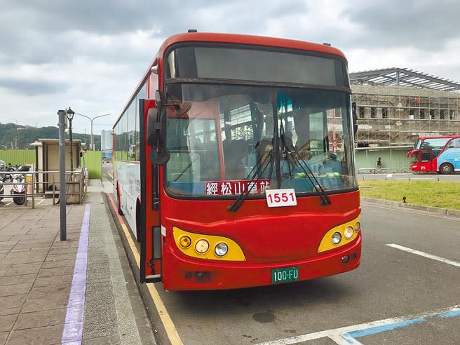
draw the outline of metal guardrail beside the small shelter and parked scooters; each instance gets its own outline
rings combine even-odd
[[[53,205],[55,205],[55,199],[59,199],[59,189],[57,186],[60,184],[59,181],[55,181],[55,174],[60,173],[59,171],[0,171],[0,179],[3,179],[4,175],[11,175],[10,182],[3,182],[1,185],[4,186],[4,194],[1,194],[2,198],[18,198],[24,197],[24,205],[27,206],[28,198],[31,198],[32,208],[35,208],[35,198],[37,196],[46,197],[51,194],[53,198]],[[43,175],[51,174],[51,181],[43,181]],[[21,182],[13,182],[13,175],[22,175]],[[39,179],[39,176],[42,178]],[[88,169],[82,169],[80,171],[66,171],[65,172],[65,184],[66,184],[66,196],[67,203],[81,203],[88,189]],[[8,181],[8,180],[6,180]],[[8,194],[6,186],[24,186],[24,194]],[[41,188],[40,188],[41,187]]]

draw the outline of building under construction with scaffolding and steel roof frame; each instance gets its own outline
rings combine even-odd
[[[350,74],[358,147],[412,145],[419,136],[460,134],[460,83],[391,68]]]

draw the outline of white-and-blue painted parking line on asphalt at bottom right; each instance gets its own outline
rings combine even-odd
[[[297,335],[295,337],[276,339],[265,341],[257,345],[294,345],[320,338],[329,338],[338,345],[363,345],[355,337],[365,337],[366,335],[377,334],[394,330],[396,328],[403,328],[410,325],[417,325],[426,322],[427,318],[447,318],[460,316],[460,305],[451,306],[449,308],[442,308],[435,311],[428,311],[419,313],[412,316],[405,316],[400,318],[387,318],[384,320],[371,321],[370,323],[361,323],[360,325],[352,325],[346,327],[334,328],[331,330],[324,330],[320,332],[313,332],[309,334]]]

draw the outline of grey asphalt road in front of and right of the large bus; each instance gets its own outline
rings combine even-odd
[[[212,292],[156,283],[183,344],[460,344],[460,218],[364,203],[361,221],[362,263],[349,273]]]

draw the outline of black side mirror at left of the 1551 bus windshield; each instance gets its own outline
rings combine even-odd
[[[170,151],[165,147],[166,121],[162,119],[161,109],[149,109],[147,116],[147,144],[151,146],[149,160],[154,165],[169,161]]]

